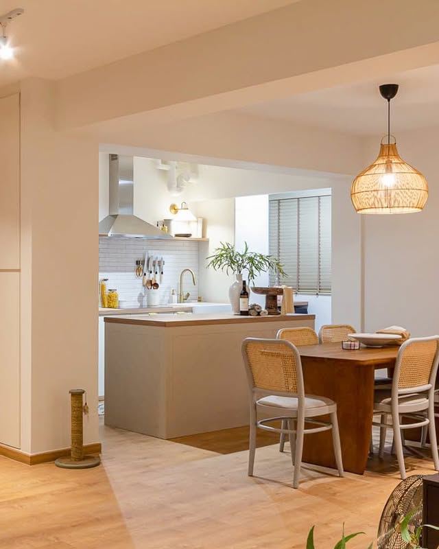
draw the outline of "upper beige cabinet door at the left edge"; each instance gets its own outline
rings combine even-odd
[[[0,98],[0,270],[20,268],[20,100]]]

